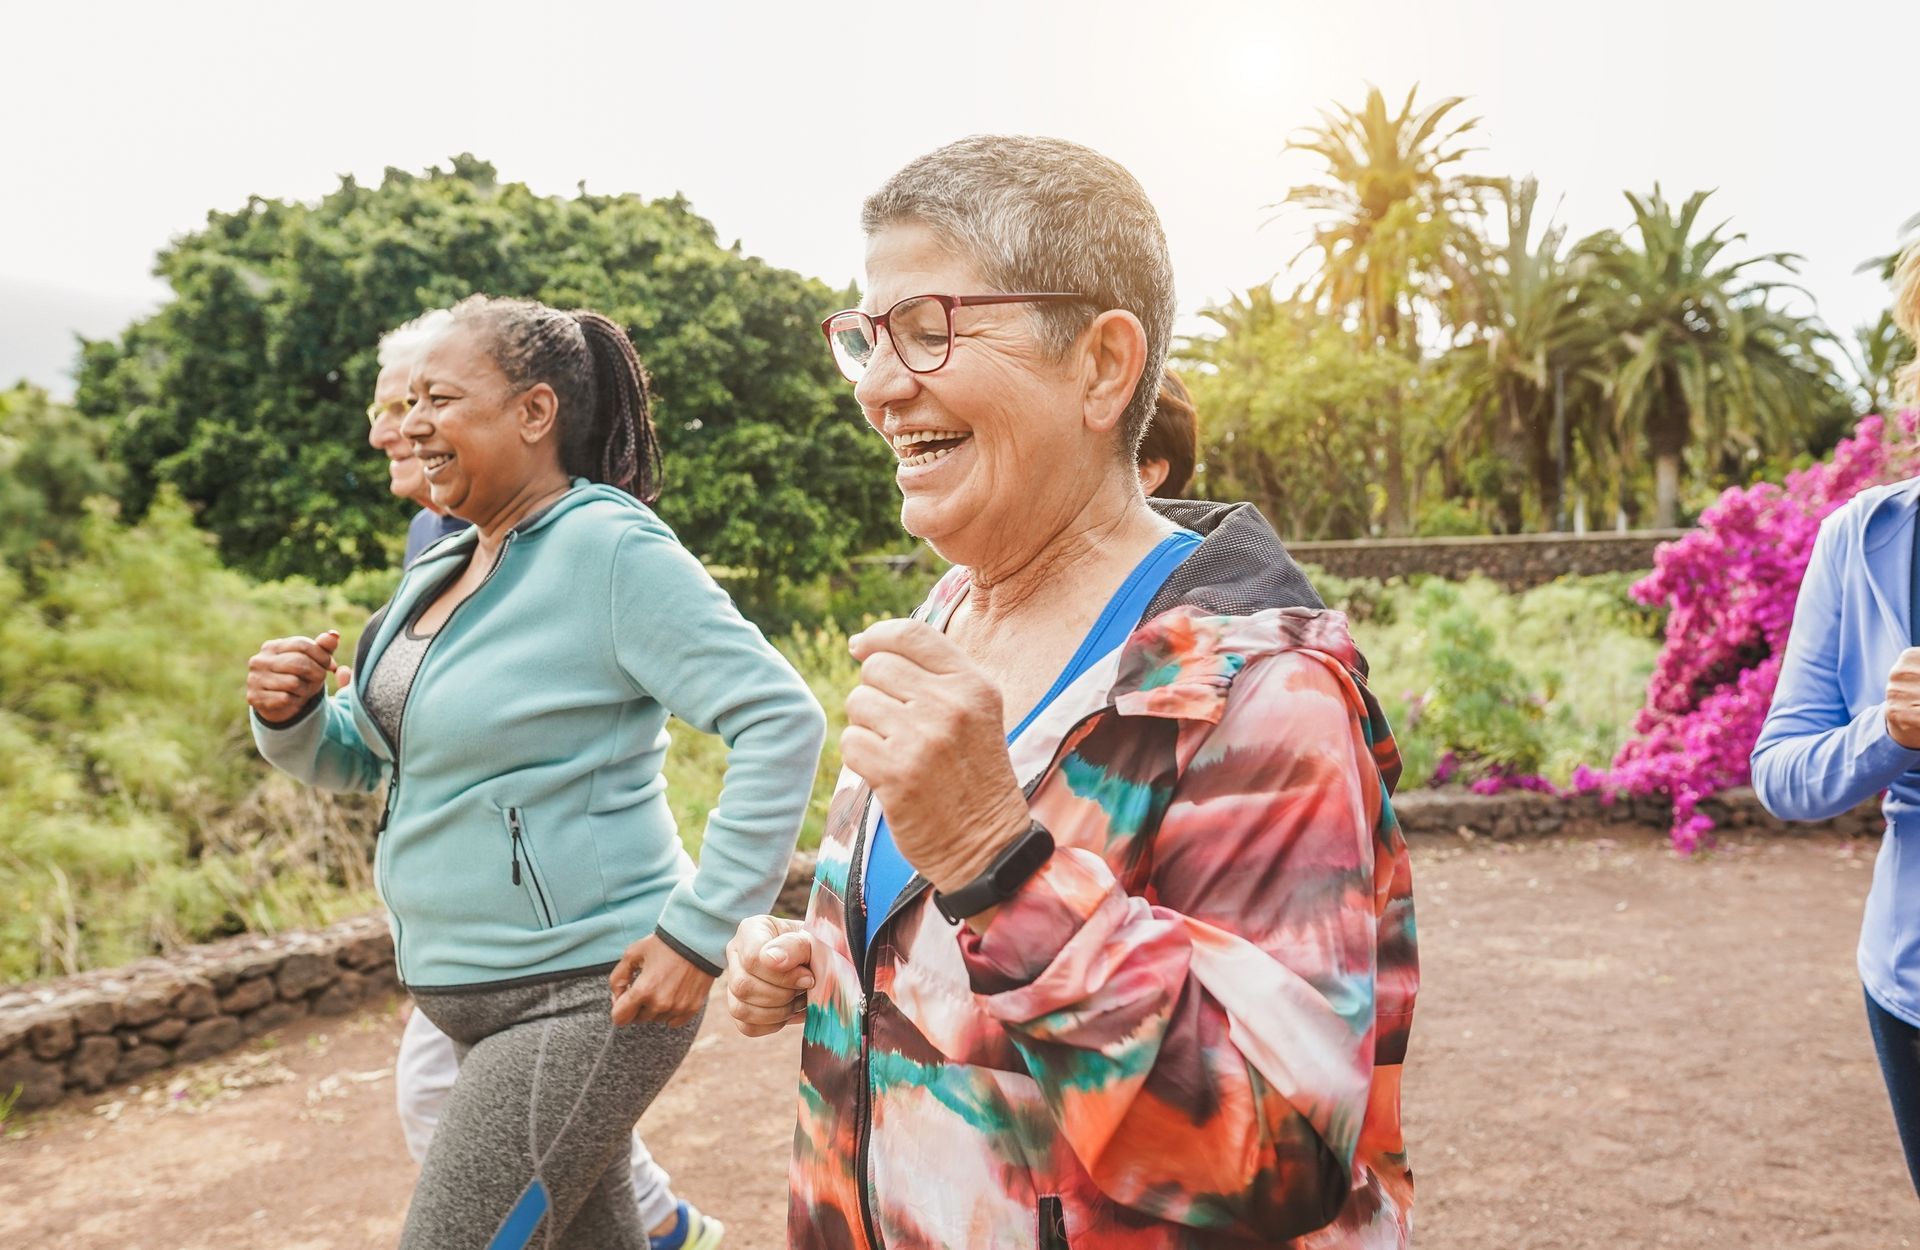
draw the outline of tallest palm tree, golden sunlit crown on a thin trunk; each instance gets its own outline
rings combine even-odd
[[[1490,179],[1455,171],[1473,148],[1478,119],[1457,119],[1463,96],[1415,108],[1419,86],[1400,111],[1388,111],[1377,86],[1359,111],[1321,111],[1321,123],[1296,132],[1286,148],[1323,163],[1313,182],[1286,192],[1319,219],[1308,252],[1321,253],[1309,294],[1344,317],[1367,346],[1390,346],[1419,357],[1423,311],[1444,311],[1467,286],[1478,248],[1473,221]],[[1306,255],[1306,253],[1302,253]],[[1405,432],[1390,430],[1382,449],[1388,534],[1409,530]]]

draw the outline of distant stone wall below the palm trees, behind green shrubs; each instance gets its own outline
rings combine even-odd
[[[1507,538],[1405,538],[1286,543],[1296,561],[1336,578],[1405,578],[1417,572],[1465,580],[1482,574],[1507,589],[1544,586],[1563,574],[1640,572],[1653,549],[1686,530],[1630,534],[1515,534]]]

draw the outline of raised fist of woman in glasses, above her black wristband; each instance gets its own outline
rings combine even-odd
[[[874,787],[893,843],[935,889],[958,889],[1027,828],[1006,755],[1000,691],[922,620],[881,620],[849,643],[841,762]]]

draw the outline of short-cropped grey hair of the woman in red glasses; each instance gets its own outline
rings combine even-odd
[[[1140,182],[1064,138],[972,134],[910,161],[860,209],[870,236],[902,223],[933,230],[1000,290],[1087,296],[1085,305],[1033,305],[1056,355],[1092,315],[1125,309],[1140,319],[1146,369],[1123,417],[1131,457],[1154,417],[1173,338],[1173,261]]]

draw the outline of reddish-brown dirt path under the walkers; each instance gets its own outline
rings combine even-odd
[[[1415,845],[1421,1250],[1920,1246],[1853,975],[1870,847]],[[0,1244],[361,1250],[413,1181],[392,1012],[0,1142]],[[795,1039],[708,1016],[647,1116],[676,1189],[781,1244]]]

